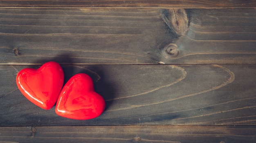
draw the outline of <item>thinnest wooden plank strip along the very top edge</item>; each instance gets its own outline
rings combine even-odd
[[[0,7],[255,8],[255,0],[1,0]]]

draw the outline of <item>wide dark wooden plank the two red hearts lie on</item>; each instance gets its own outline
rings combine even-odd
[[[18,71],[0,66],[0,126],[256,125],[256,65],[62,65],[65,81],[89,74],[106,100],[92,120],[43,110],[17,89]]]

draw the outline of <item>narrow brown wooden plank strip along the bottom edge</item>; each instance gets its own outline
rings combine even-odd
[[[0,127],[0,143],[255,143],[255,126]]]

